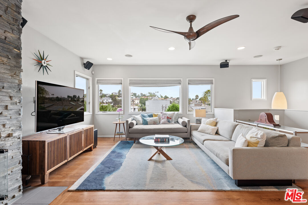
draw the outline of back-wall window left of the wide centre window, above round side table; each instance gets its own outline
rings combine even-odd
[[[95,80],[96,113],[118,114],[117,109],[122,108],[123,105],[123,78],[96,78]]]

